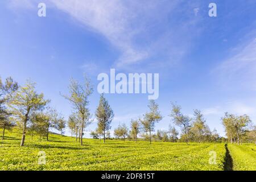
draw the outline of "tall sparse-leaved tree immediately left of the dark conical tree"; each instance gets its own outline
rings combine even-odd
[[[88,97],[92,94],[93,88],[90,83],[90,80],[85,77],[85,84],[80,85],[76,80],[71,79],[69,84],[69,96],[64,96],[71,104],[73,108],[79,113],[79,117],[81,119],[80,123],[80,142],[82,145],[82,136],[84,133],[84,128],[86,125],[86,121],[89,121],[89,101]]]

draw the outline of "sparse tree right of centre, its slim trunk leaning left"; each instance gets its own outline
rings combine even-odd
[[[172,120],[174,121],[175,125],[182,128],[185,141],[188,144],[188,130],[190,125],[191,119],[187,116],[181,113],[181,107],[176,104],[172,104],[172,110],[170,117],[172,117]]]

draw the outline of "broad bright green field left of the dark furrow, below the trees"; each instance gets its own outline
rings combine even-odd
[[[122,142],[51,135],[49,142],[27,135],[19,147],[20,134],[7,133],[0,142],[1,170],[222,170],[223,143]],[[38,164],[38,152],[46,152],[46,165]],[[209,164],[209,151],[217,152],[217,164]]]

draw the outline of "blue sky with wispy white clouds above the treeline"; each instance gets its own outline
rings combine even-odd
[[[47,6],[39,17],[38,3]],[[209,17],[209,3],[217,17]],[[195,9],[199,11],[195,13]],[[159,73],[160,111],[156,129],[168,129],[171,101],[185,114],[205,114],[210,129],[224,135],[225,111],[256,119],[256,3],[248,1],[64,1],[0,2],[0,76],[20,85],[27,78],[68,117],[69,78],[89,75]],[[147,111],[147,94],[106,94],[115,118],[129,125]],[[96,128],[96,123],[86,131]],[[69,134],[66,131],[66,134]]]

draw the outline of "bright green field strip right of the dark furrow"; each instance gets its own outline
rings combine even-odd
[[[242,144],[242,146],[228,144],[233,159],[233,170],[256,171],[256,145]]]

